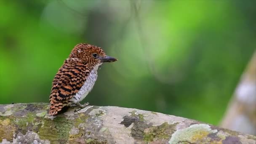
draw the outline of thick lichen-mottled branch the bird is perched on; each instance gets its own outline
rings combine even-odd
[[[256,144],[256,136],[157,112],[88,106],[53,118],[48,108],[0,105],[2,144]]]

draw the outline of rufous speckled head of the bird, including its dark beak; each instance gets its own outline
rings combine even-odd
[[[106,53],[95,45],[80,43],[73,48],[69,58],[79,59],[94,66],[99,66],[104,62],[114,62],[117,59],[107,56]]]

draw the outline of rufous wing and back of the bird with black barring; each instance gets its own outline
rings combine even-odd
[[[56,115],[83,86],[89,69],[83,64],[63,64],[53,79],[49,115]]]

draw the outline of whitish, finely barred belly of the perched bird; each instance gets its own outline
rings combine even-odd
[[[75,94],[75,96],[71,99],[74,103],[78,103],[79,101],[82,101],[88,93],[93,89],[93,85],[95,84],[97,80],[97,69],[93,69],[91,73],[87,76],[85,83],[83,86],[80,88],[80,90]]]

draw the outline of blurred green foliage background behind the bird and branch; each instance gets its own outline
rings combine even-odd
[[[48,102],[77,43],[104,49],[91,105],[217,125],[256,48],[256,1],[1,0],[0,104]]]

